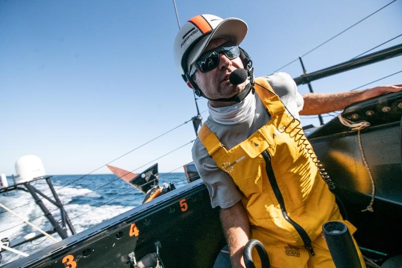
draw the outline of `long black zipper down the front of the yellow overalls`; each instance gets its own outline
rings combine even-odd
[[[280,205],[280,209],[282,210],[282,215],[285,218],[287,222],[289,222],[294,229],[298,232],[300,237],[302,237],[303,242],[305,244],[306,249],[314,256],[316,253],[314,252],[313,246],[311,245],[311,239],[305,229],[303,229],[302,226],[298,225],[295,221],[293,221],[289,215],[287,214],[286,208],[285,208],[285,202],[283,201],[283,196],[279,190],[278,183],[276,182],[275,179],[275,174],[273,173],[272,165],[271,165],[271,157],[268,154],[268,152],[265,150],[264,152],[261,153],[262,157],[265,160],[265,170],[268,175],[268,180],[269,183],[271,184],[272,190],[275,194],[276,199],[278,200],[278,203]]]

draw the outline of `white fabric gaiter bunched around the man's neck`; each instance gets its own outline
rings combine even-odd
[[[254,117],[255,97],[251,92],[239,103],[225,107],[212,107],[208,102],[212,119],[221,124],[239,124]]]

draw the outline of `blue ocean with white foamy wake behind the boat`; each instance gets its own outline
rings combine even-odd
[[[143,193],[114,174],[87,175],[77,180],[80,177],[82,175],[55,175],[51,179],[77,233],[135,208],[144,199]],[[12,179],[8,177],[8,181],[11,184]],[[173,182],[176,188],[187,183],[184,173],[159,173],[159,185],[170,182]],[[45,180],[32,182],[32,185],[54,199]],[[48,200],[42,198],[42,201],[55,219],[60,220],[60,210]],[[43,216],[42,210],[33,201],[29,192],[18,190],[3,193],[0,195],[0,203],[10,209],[15,208],[14,212],[30,220],[42,230],[52,229],[50,222]],[[22,219],[0,208],[0,239],[7,237],[13,243],[34,231],[35,229]],[[68,235],[71,235],[69,230]],[[57,233],[52,236],[58,240],[61,239]],[[32,254],[53,243],[55,242],[52,239],[41,237],[17,246],[15,249]],[[0,265],[21,257],[10,251],[4,251],[1,253]]]

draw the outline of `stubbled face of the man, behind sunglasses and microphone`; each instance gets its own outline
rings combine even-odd
[[[217,48],[228,42],[223,38],[212,40],[205,51]],[[215,69],[202,73],[198,70],[194,73],[194,80],[203,93],[212,99],[230,98],[242,91],[246,82],[240,85],[232,85],[229,81],[229,75],[238,68],[244,68],[240,57],[233,60],[228,59],[223,53],[219,54],[219,65]],[[226,106],[232,103],[210,101],[213,106]]]

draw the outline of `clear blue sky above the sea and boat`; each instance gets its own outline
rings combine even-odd
[[[184,1],[180,23],[198,14],[245,20],[242,43],[255,74],[267,75],[389,1]],[[202,3],[202,4],[200,4]],[[308,72],[402,34],[392,3],[304,57]],[[85,174],[195,115],[173,63],[178,30],[172,1],[0,1],[0,173],[38,155],[48,174]],[[402,42],[402,37],[382,48]],[[317,92],[350,90],[400,71],[402,58],[313,82]],[[302,74],[299,63],[281,71]],[[402,73],[376,84],[401,83]],[[301,93],[308,92],[300,86]],[[198,101],[201,111],[206,100]],[[207,118],[208,113],[202,114]],[[328,118],[328,117],[326,117]],[[318,124],[306,119],[304,124]],[[187,123],[112,165],[134,170],[195,138]],[[191,161],[187,145],[160,172]],[[137,170],[138,172],[141,171]],[[178,169],[176,172],[182,172]],[[109,173],[106,168],[96,173]]]

